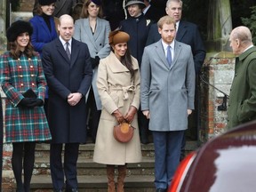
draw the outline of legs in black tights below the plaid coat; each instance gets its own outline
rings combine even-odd
[[[12,148],[12,170],[17,184],[17,191],[28,192],[35,163],[36,142],[16,142],[12,143]],[[23,151],[24,186],[22,183]]]

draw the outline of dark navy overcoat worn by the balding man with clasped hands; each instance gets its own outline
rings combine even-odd
[[[86,111],[84,97],[71,107],[70,92],[88,92],[92,84],[90,53],[86,44],[72,39],[71,59],[57,38],[45,44],[42,56],[49,86],[48,114],[52,143],[86,142]]]

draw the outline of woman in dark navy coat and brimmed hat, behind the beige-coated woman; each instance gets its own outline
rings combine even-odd
[[[143,0],[128,0],[125,4],[131,17],[120,22],[120,30],[126,32],[131,36],[128,47],[131,54],[141,64],[141,58],[144,47],[148,38],[148,31],[150,28],[150,20],[146,20],[142,10],[145,8]],[[148,120],[143,116],[141,110],[138,111],[140,141],[143,144],[148,143]]]

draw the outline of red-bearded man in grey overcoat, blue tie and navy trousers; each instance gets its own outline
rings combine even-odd
[[[174,40],[175,20],[167,15],[157,26],[161,39],[147,46],[142,57],[140,103],[154,140],[156,191],[162,192],[180,163],[183,133],[194,109],[196,76],[191,47]]]

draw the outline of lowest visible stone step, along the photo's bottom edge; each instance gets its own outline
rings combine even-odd
[[[106,192],[107,176],[77,176],[79,192]],[[115,179],[116,180],[116,179]],[[33,192],[52,191],[52,180],[50,175],[34,175],[31,180]],[[154,175],[127,175],[124,180],[125,192],[153,192]]]

